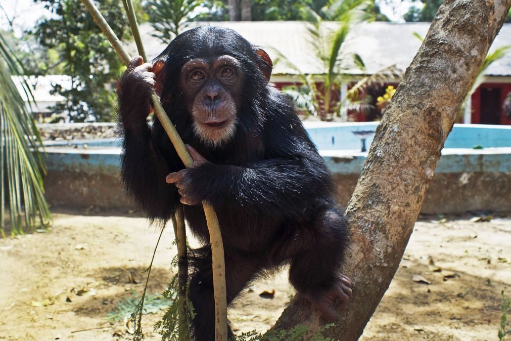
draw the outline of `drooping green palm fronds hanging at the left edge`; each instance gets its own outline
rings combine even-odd
[[[12,78],[21,76],[21,70],[0,34],[0,233],[4,237],[7,220],[11,235],[51,221],[40,171],[44,171],[38,149],[41,138]],[[27,82],[21,83],[25,95],[33,99]]]

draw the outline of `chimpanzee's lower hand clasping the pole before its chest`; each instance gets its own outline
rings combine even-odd
[[[196,168],[205,163],[208,163],[208,161],[202,157],[202,155],[199,154],[197,150],[195,150],[192,146],[187,145],[187,149],[193,158],[192,168]],[[179,200],[181,203],[184,203],[185,205],[196,205],[200,203],[203,198],[199,198],[196,191],[193,190],[192,177],[190,175],[191,169],[182,169],[179,172],[174,172],[167,175],[165,181],[167,181],[167,184],[176,185],[177,191],[181,195],[181,199]]]

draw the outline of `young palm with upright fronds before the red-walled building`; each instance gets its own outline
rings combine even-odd
[[[346,79],[348,71],[364,70],[364,63],[356,53],[345,52],[344,46],[348,33],[357,22],[370,20],[367,9],[374,2],[363,0],[330,1],[316,12],[309,8],[308,21],[311,47],[322,62],[324,73],[313,77],[304,75],[286,58],[284,62],[299,73],[301,85],[284,87],[284,92],[293,100],[299,111],[307,115],[319,116],[322,120],[331,120],[349,110],[364,110],[372,100],[366,95],[371,83],[387,79],[400,79],[401,74],[394,66],[370,76],[364,77],[353,86],[343,99],[336,99],[333,94],[339,92],[341,83]],[[326,18],[326,20],[324,19]],[[336,22],[336,26],[328,28],[325,21]],[[319,85],[318,85],[319,84]],[[347,120],[347,115],[344,115]]]

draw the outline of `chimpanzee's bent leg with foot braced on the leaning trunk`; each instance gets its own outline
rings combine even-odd
[[[348,241],[344,215],[329,204],[319,211],[312,226],[301,226],[290,245],[294,255],[289,281],[331,320],[338,317],[333,309],[336,301],[345,306],[352,294],[351,281],[337,272]]]

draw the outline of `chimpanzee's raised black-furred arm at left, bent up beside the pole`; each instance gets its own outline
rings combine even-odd
[[[136,66],[135,63],[130,66]],[[129,71],[128,67],[118,92],[124,151],[121,156],[122,180],[128,194],[150,219],[167,220],[177,207],[179,194],[165,183],[165,176],[184,167],[161,125],[155,122],[149,128],[146,122],[152,88],[135,82],[140,74],[133,75]]]

